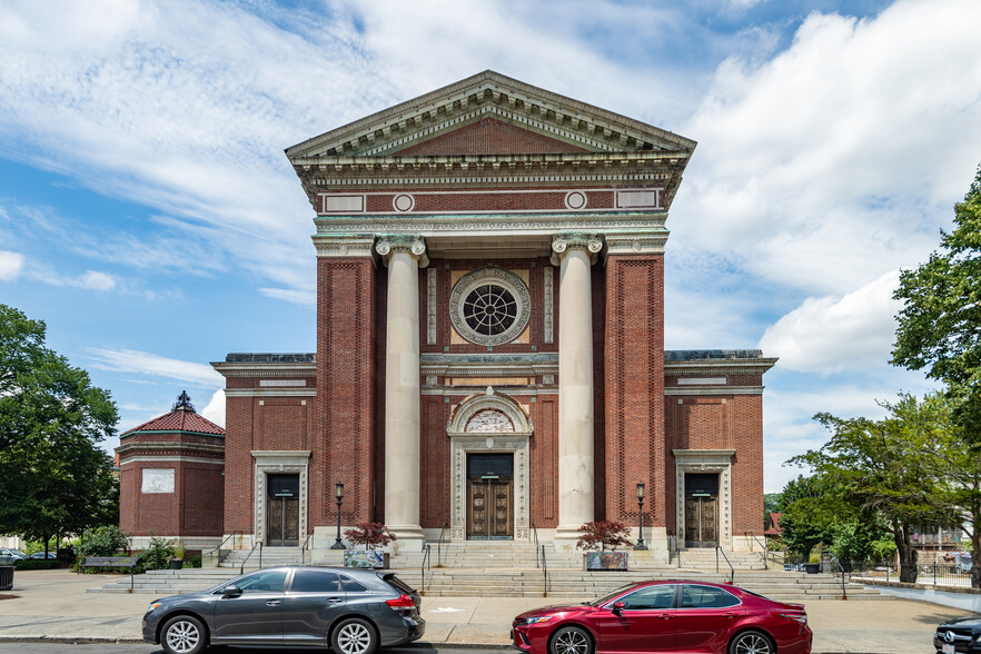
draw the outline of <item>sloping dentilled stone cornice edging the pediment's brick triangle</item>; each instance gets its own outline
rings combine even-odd
[[[695,141],[487,70],[287,148],[316,155],[404,149],[487,116],[579,147],[692,151]]]

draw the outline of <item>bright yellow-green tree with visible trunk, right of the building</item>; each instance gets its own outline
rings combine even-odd
[[[881,420],[818,414],[814,419],[831,432],[831,439],[789,463],[833,479],[833,496],[864,524],[883,524],[900,556],[900,581],[915,582],[913,532],[949,516],[937,501],[941,485],[931,454],[934,430],[911,396],[883,406],[890,415]]]

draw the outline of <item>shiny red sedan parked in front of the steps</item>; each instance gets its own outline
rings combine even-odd
[[[631,584],[585,604],[528,611],[512,627],[515,648],[529,654],[811,652],[802,605],[731,584]]]

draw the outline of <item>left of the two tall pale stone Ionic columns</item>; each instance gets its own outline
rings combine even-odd
[[[392,237],[375,250],[388,265],[385,349],[385,524],[403,547],[418,549],[419,267],[429,264],[422,237]]]

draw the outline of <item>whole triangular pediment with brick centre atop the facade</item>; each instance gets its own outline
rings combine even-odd
[[[678,135],[485,71],[286,150],[296,165],[334,157],[660,151]]]

